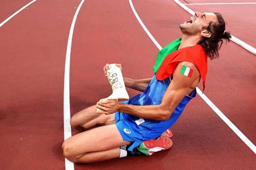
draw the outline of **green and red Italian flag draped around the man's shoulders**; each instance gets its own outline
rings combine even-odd
[[[191,62],[197,67],[203,79],[203,91],[207,74],[207,55],[201,45],[179,49],[181,38],[178,38],[159,51],[153,66],[157,80],[164,80],[173,74],[180,62]]]

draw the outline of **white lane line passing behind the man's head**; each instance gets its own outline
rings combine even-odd
[[[192,11],[190,8],[188,8],[186,5],[184,5],[183,3],[181,3],[179,0],[173,0],[174,2],[176,2],[180,7],[182,7],[184,10],[186,10],[188,13],[190,13],[191,15],[194,15],[195,12]],[[235,36],[232,35],[231,37],[231,41],[235,42],[236,44],[240,45],[241,47],[243,47],[244,49],[248,50],[249,52],[251,52],[252,54],[256,55],[256,49],[252,46],[250,46],[249,44],[243,42],[242,40],[236,38]]]

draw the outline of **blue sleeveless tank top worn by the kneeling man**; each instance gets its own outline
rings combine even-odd
[[[122,103],[128,105],[160,105],[162,98],[171,82],[170,77],[164,80],[156,80],[155,75],[152,77],[146,90],[139,95],[132,97],[131,99]],[[137,134],[142,136],[142,139],[150,140],[160,136],[165,130],[170,128],[180,117],[182,111],[188,102],[194,98],[196,90],[194,89],[190,95],[186,95],[179,105],[173,111],[171,117],[167,121],[155,121],[142,119],[137,116],[122,113],[123,119],[125,119],[129,125],[136,131]]]

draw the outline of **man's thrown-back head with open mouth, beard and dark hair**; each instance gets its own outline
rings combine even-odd
[[[223,43],[222,39],[230,41],[231,35],[225,32],[225,26],[225,21],[219,13],[199,12],[195,12],[190,21],[180,24],[184,35],[199,37],[198,44],[211,60],[219,57],[218,50]]]

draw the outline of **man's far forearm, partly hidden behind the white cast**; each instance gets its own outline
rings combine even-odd
[[[144,92],[146,87],[149,85],[149,82],[151,81],[151,78],[147,79],[140,79],[140,80],[134,80],[131,78],[125,78],[124,77],[124,84],[125,87],[138,90],[140,92]]]

